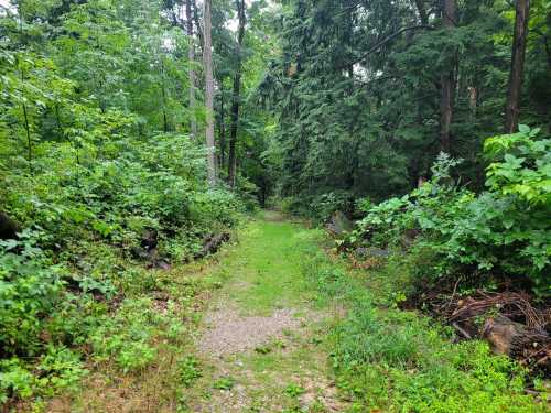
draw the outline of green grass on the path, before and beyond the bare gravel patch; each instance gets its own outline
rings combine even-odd
[[[209,275],[210,282],[224,284],[214,298],[217,306],[237,307],[242,316],[270,316],[279,308],[291,308],[306,318],[315,307],[318,316],[249,351],[222,360],[207,357],[203,377],[185,392],[188,411],[197,410],[197,405],[225,411],[217,399],[225,390],[218,384],[227,376],[235,385],[246,389],[244,409],[250,412],[300,411],[299,394],[289,395],[291,383],[298,389],[305,383],[317,389],[331,382],[328,354],[316,337],[327,336],[332,314],[326,306],[315,305],[315,292],[302,272],[304,251],[317,249],[321,235],[273,213],[263,213],[240,231],[238,243],[228,249]]]

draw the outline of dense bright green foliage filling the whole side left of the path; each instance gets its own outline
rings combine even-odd
[[[163,289],[143,265],[193,259],[244,209],[207,185],[187,40],[162,3],[69,3],[0,18],[0,199],[19,233],[0,241],[0,403],[75,384],[87,351],[151,362],[155,328],[180,327],[141,296]]]

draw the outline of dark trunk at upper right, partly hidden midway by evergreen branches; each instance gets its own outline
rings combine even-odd
[[[444,29],[451,30],[456,24],[456,3],[455,0],[443,0],[442,24]],[[440,145],[442,151],[450,153],[450,131],[453,119],[453,100],[455,70],[452,67],[441,76],[441,100],[440,100]]]

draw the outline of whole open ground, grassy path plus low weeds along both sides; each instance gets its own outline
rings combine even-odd
[[[264,211],[215,257],[155,271],[136,317],[159,324],[139,371],[95,362],[48,412],[544,412],[480,341],[399,309],[403,272],[357,271],[321,230]],[[140,325],[138,325],[138,328]],[[169,329],[169,333],[166,332]],[[140,355],[137,355],[140,357]]]

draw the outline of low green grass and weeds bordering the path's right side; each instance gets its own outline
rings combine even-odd
[[[309,256],[303,271],[318,300],[347,309],[329,346],[350,412],[545,411],[525,393],[528,379],[518,363],[490,355],[483,341],[454,344],[449,328],[399,309],[408,276],[397,267],[353,272],[325,253]]]

